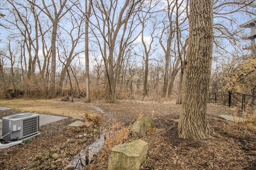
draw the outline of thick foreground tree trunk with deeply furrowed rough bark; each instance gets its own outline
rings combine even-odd
[[[213,0],[190,0],[188,64],[178,135],[203,139],[214,134],[207,121],[213,43]]]

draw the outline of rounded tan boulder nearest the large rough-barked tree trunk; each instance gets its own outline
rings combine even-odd
[[[141,137],[147,132],[156,129],[156,125],[150,117],[138,117],[138,119],[132,124],[130,133],[134,137]]]

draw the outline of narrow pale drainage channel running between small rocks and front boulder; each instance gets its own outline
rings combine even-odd
[[[74,170],[82,170],[86,165],[92,162],[94,154],[100,152],[104,145],[104,135],[100,135],[100,139],[96,139],[96,141],[90,145],[88,145],[84,150],[80,153],[76,154],[69,162],[68,165],[74,165]]]

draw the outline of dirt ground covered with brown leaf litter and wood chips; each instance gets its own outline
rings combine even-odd
[[[220,114],[233,114],[233,109],[228,107],[208,104],[208,120],[214,127],[216,135],[209,139],[193,141],[178,138],[180,105],[176,105],[172,100],[168,102],[118,100],[115,104],[110,104],[105,100],[90,103],[75,101],[72,103],[60,99],[14,99],[0,100],[0,106],[12,107],[14,110],[26,112],[70,117],[66,123],[61,124],[61,130],[54,126],[58,122],[40,129],[41,133],[48,135],[44,136],[44,141],[40,141],[39,135],[38,143],[0,150],[0,169],[17,169],[19,164],[26,162],[27,159],[24,158],[24,155],[31,157],[38,152],[44,152],[44,150],[54,147],[54,145],[64,143],[76,134],[64,132],[63,127],[81,118],[85,113],[100,115],[104,121],[99,126],[108,129],[116,122],[129,126],[135,117],[151,117],[153,111],[153,121],[157,129],[143,137],[129,136],[127,139],[127,141],[142,139],[149,144],[147,159],[140,167],[141,170],[256,169],[256,126],[251,123],[238,124],[220,119],[218,117]],[[3,116],[1,115],[1,117]],[[56,131],[61,131],[61,133]],[[73,148],[74,152],[78,152],[80,149],[82,148]],[[102,160],[98,154],[85,169],[107,169],[107,165],[108,160]]]

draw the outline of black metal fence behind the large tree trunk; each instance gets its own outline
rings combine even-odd
[[[237,92],[211,92],[208,94],[208,102],[226,105],[228,107],[240,107],[241,111],[252,113],[256,109],[256,95]]]

